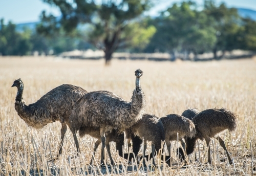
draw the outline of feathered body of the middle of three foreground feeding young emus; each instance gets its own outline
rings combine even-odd
[[[194,123],[180,115],[169,114],[162,117],[161,121],[164,126],[166,141],[177,140],[177,133],[179,133],[179,138],[185,136],[193,137],[196,134]]]

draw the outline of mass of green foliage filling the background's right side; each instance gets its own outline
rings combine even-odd
[[[217,58],[217,51],[256,50],[254,23],[224,3],[217,6],[215,1],[207,0],[202,10],[190,1],[175,3],[151,20],[157,32],[145,51],[196,55],[212,51]]]

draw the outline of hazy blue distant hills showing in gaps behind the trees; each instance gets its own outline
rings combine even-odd
[[[256,21],[256,11],[255,10],[251,10],[251,9],[244,9],[244,8],[238,8],[238,13],[242,16],[242,17],[250,17],[251,19]],[[58,17],[60,18],[60,16]],[[24,27],[27,27],[31,30],[35,30],[36,25],[39,22],[32,22],[32,23],[21,23],[21,24],[17,24],[16,25],[16,30],[17,31],[23,31]]]

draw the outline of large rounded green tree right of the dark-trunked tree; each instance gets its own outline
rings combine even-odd
[[[177,52],[197,55],[209,51],[216,41],[212,20],[193,2],[175,3],[153,23],[157,32],[147,50],[169,52],[173,60]]]

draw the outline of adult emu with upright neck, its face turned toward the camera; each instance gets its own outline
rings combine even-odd
[[[140,86],[142,74],[140,69],[135,71],[136,88],[131,101],[126,101],[109,91],[95,91],[87,93],[75,103],[68,125],[78,152],[77,131],[88,126],[99,128],[102,163],[106,141],[105,133],[112,129],[121,133],[142,118],[145,109],[145,95]]]

